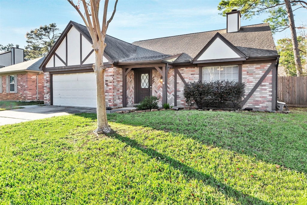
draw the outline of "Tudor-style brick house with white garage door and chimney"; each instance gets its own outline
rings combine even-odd
[[[136,41],[106,36],[103,63],[107,67],[106,104],[112,108],[161,97],[159,105],[185,106],[189,81],[246,82],[243,107],[274,110],[278,53],[269,24],[240,26],[240,13],[227,13],[227,29]],[[68,26],[41,69],[45,103],[96,107],[92,64],[95,53],[87,28]]]

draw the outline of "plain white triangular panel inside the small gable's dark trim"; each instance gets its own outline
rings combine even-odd
[[[216,38],[216,40],[204,51],[204,53],[197,59],[197,61],[239,57],[240,56],[235,53],[235,51],[233,51],[228,45],[226,45],[220,38]]]

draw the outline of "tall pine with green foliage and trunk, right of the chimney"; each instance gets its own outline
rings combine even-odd
[[[264,22],[270,23],[273,32],[290,28],[296,73],[297,76],[301,76],[302,65],[297,44],[296,28],[303,29],[306,27],[295,27],[292,7],[295,8],[294,11],[299,8],[307,9],[307,2],[300,0],[222,0],[218,9],[223,11],[223,15],[232,9],[239,9],[243,18],[246,19],[252,18],[254,15],[268,13],[269,18],[265,19]]]

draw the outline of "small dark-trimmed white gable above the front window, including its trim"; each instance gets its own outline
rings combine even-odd
[[[227,41],[221,34],[216,35],[197,54],[193,61],[218,61],[218,60],[243,60],[246,56],[234,45]],[[245,59],[244,59],[245,60]]]

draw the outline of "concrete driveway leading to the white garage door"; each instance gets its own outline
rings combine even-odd
[[[96,108],[65,107],[54,105],[27,105],[22,107],[24,108],[0,111],[0,126],[30,120],[39,120],[53,116],[70,115],[80,112],[97,112]]]

